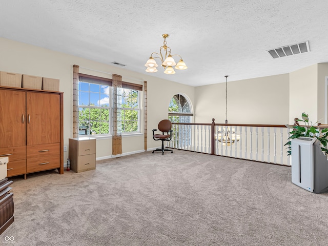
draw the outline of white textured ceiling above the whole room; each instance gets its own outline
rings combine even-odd
[[[327,9],[326,0],[2,0],[0,36],[200,86],[328,62]],[[187,70],[146,73],[163,33]],[[267,52],[307,40],[308,53]]]

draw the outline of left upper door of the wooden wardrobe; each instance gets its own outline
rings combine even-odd
[[[0,148],[26,145],[25,92],[0,90]]]

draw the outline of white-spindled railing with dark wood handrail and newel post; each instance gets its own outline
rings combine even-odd
[[[290,166],[284,125],[172,123],[168,147]]]

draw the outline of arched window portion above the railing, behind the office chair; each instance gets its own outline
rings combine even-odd
[[[192,122],[192,109],[188,99],[181,94],[172,97],[169,106],[169,120],[171,122]]]

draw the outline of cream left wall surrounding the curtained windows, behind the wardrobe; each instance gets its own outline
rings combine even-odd
[[[148,148],[158,147],[158,141],[152,139],[152,129],[157,128],[161,119],[168,118],[168,107],[171,98],[177,93],[188,95],[194,104],[194,87],[159,79],[147,74],[97,63],[96,61],[67,55],[48,49],[35,47],[13,40],[0,38],[0,70],[6,72],[30,74],[41,77],[60,79],[59,90],[64,92],[64,145],[73,135],[73,65],[80,67],[81,73],[111,78],[119,74],[122,80],[135,84],[148,82]],[[159,71],[160,72],[160,71]],[[170,76],[170,75],[168,75]],[[143,126],[142,126],[143,129]],[[134,153],[144,150],[144,135],[124,137],[122,151]],[[97,139],[97,158],[110,157],[112,153],[111,139]],[[64,160],[68,152],[64,152]]]

